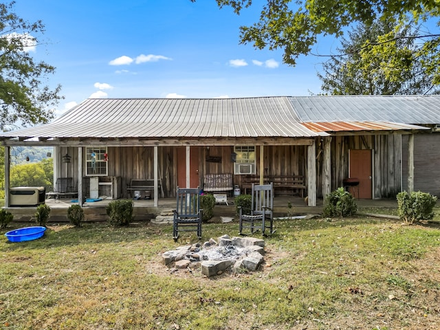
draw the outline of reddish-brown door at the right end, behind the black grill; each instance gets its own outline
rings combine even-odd
[[[350,150],[349,175],[350,177],[357,177],[359,179],[359,192],[355,191],[355,197],[360,199],[371,199],[373,197],[371,150]],[[358,189],[355,188],[355,190]],[[353,192],[353,190],[351,190],[351,192]]]

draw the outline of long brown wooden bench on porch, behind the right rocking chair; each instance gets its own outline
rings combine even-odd
[[[278,190],[285,195],[300,195],[304,197],[307,186],[303,175],[270,175],[264,177],[264,184],[274,183],[274,190]],[[244,193],[252,188],[252,184],[260,184],[260,177],[257,175],[243,175],[241,178],[241,188]]]

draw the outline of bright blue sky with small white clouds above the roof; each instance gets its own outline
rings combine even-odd
[[[240,16],[214,0],[17,0],[15,12],[45,24],[33,56],[56,67],[57,113],[90,97],[219,98],[319,93],[322,58],[282,63],[282,52],[239,45],[239,26],[259,18],[262,1]],[[320,45],[318,44],[318,52]],[[336,50],[326,45],[322,53]]]

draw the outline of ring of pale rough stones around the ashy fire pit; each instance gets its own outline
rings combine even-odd
[[[201,274],[219,275],[232,266],[232,272],[253,272],[263,263],[264,240],[254,237],[232,237],[223,235],[208,242],[179,248],[162,254],[162,262],[176,268],[197,267]]]

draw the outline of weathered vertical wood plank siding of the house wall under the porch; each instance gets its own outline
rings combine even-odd
[[[317,197],[322,197],[322,160],[323,141],[316,139],[316,184]],[[199,180],[203,186],[205,173],[234,173],[231,154],[233,146],[200,146]],[[342,186],[342,180],[349,175],[349,150],[373,150],[373,194],[375,198],[395,197],[401,189],[401,135],[355,135],[336,136],[331,140],[331,190]],[[109,176],[121,178],[122,197],[128,197],[126,186],[131,179],[153,179],[153,147],[109,147]],[[63,164],[61,156],[68,153],[72,156],[70,164]],[[216,162],[207,160],[217,157]],[[74,177],[78,180],[78,148],[59,148],[59,177]],[[208,157],[208,158],[207,158]],[[256,146],[256,175],[263,170],[264,175],[303,175],[307,182],[307,146],[264,146],[264,168],[260,168],[260,148]],[[173,146],[158,147],[159,179],[162,181],[164,197],[175,197],[177,184],[176,148]],[[83,159],[85,162],[85,159]],[[439,166],[440,167],[440,166]],[[85,166],[83,166],[85,169]],[[234,184],[241,186],[241,175],[234,175]],[[440,185],[439,185],[440,186]]]

